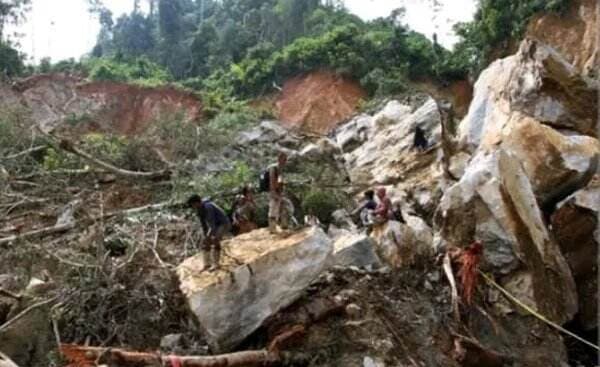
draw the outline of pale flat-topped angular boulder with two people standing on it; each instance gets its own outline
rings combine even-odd
[[[258,230],[223,246],[225,264],[200,272],[202,256],[178,268],[180,288],[216,352],[237,346],[290,305],[330,264],[333,245],[319,228],[288,237]]]

